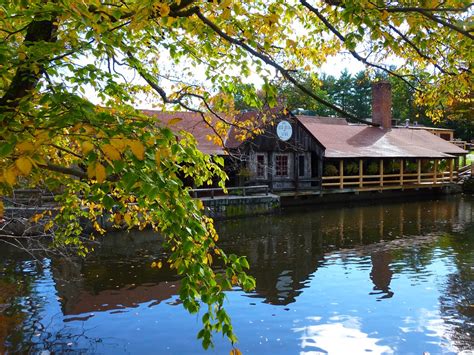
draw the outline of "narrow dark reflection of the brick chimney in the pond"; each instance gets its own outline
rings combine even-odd
[[[393,292],[390,290],[390,282],[392,281],[393,271],[390,269],[392,256],[390,252],[378,251],[370,256],[372,260],[372,270],[370,271],[370,279],[374,283],[374,291],[370,294],[380,295],[379,299],[391,298]]]

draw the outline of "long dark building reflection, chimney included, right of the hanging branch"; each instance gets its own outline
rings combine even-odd
[[[394,273],[390,247],[381,250],[374,243],[385,245],[402,238],[409,242],[410,237],[451,231],[473,221],[472,204],[446,198],[376,206],[319,206],[312,211],[220,222],[218,230],[226,251],[248,256],[250,274],[257,279],[255,296],[265,302],[289,304],[304,291],[310,275],[324,265],[325,257],[341,248],[371,255],[374,291],[391,297],[395,290],[390,289]],[[344,262],[344,253],[338,254]]]

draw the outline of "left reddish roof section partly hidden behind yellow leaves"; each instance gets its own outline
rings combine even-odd
[[[173,118],[181,118],[181,121],[169,125],[169,128],[174,133],[178,134],[181,130],[191,133],[196,139],[198,149],[205,154],[225,154],[224,148],[221,145],[217,145],[213,140],[208,139],[209,136],[215,136],[215,132],[206,122],[204,122],[199,113],[163,112],[154,110],[142,110],[142,112],[145,115],[156,117],[163,125],[168,125]]]

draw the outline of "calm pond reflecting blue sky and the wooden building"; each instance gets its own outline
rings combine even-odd
[[[217,222],[257,287],[227,293],[250,354],[474,349],[474,199],[290,209]],[[0,353],[206,353],[179,279],[147,232],[110,234],[83,262],[0,251]],[[208,353],[229,353],[215,336]],[[46,352],[47,353],[47,352]]]

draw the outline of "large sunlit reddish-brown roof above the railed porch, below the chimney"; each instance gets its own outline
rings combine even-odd
[[[425,130],[323,124],[309,116],[297,120],[324,146],[326,158],[449,158],[467,153]]]

